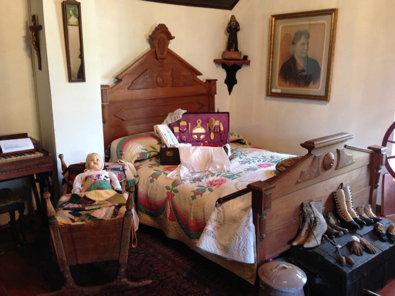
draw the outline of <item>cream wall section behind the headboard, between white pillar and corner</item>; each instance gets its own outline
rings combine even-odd
[[[116,74],[150,49],[148,37],[162,23],[175,37],[169,48],[197,68],[203,74],[200,79],[218,78],[218,92],[227,93],[225,72],[213,60],[226,48],[230,10],[118,0],[109,11],[108,1],[95,4],[103,84],[111,84]],[[218,100],[217,107],[228,111],[229,100]]]

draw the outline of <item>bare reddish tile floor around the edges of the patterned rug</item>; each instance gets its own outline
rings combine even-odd
[[[395,215],[386,219],[395,222]],[[36,239],[35,230],[37,231],[33,229],[30,233],[28,231],[28,241]],[[10,243],[11,239],[7,239],[7,235],[4,235],[8,232],[0,227],[0,248]],[[0,251],[0,296],[36,296],[49,292],[51,292],[49,283],[21,252],[10,248],[7,251]],[[379,296],[395,296],[395,279],[375,293]]]

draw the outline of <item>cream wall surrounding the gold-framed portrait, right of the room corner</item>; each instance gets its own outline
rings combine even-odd
[[[335,7],[330,101],[266,97],[270,15]],[[251,66],[237,73],[243,87],[230,98],[232,125],[256,145],[291,153],[303,153],[298,144],[305,140],[341,131],[356,135],[357,146],[380,145],[395,112],[394,11],[392,0],[240,0],[233,13],[244,28],[240,41]]]

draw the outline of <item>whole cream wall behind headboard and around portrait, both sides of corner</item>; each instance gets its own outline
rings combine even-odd
[[[230,111],[231,127],[255,145],[299,154],[305,153],[300,143],[344,131],[356,135],[353,145],[366,148],[381,144],[393,122],[392,0],[240,0],[233,11],[118,0],[110,12],[107,1],[95,3],[102,83],[111,83],[145,53],[148,35],[164,23],[175,36],[170,48],[203,73],[201,79],[218,79],[216,107]],[[270,15],[335,7],[339,14],[330,101],[266,97]],[[251,65],[237,72],[229,96],[226,73],[213,59],[226,48],[231,14],[241,26],[239,50]]]

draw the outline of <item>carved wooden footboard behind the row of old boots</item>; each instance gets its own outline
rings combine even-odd
[[[346,145],[353,137],[339,133],[302,143],[308,153],[298,162],[276,177],[247,186],[252,191],[257,266],[290,248],[303,201],[322,200],[322,212],[332,211],[332,192],[342,182],[352,188],[356,207],[371,204],[375,209],[386,148]]]

